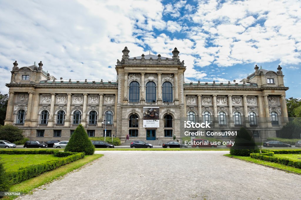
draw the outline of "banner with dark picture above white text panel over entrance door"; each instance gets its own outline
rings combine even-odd
[[[159,128],[159,107],[143,107],[143,127]]]

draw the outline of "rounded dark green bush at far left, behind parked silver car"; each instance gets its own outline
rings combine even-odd
[[[14,143],[14,141],[24,139],[22,132],[22,129],[10,124],[0,126],[0,140],[7,140]]]

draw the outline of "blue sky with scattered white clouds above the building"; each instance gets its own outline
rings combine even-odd
[[[300,1],[0,1],[0,92],[13,62],[43,62],[59,79],[115,80],[125,46],[172,57],[185,80],[228,82],[281,65],[287,98],[301,98]]]

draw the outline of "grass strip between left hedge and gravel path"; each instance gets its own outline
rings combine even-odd
[[[87,164],[88,162],[91,162],[95,159],[100,158],[103,156],[103,154],[94,154],[85,156],[83,159],[79,159],[77,161],[71,162],[67,165],[63,165],[55,170],[45,172],[41,174],[40,176],[31,178],[29,180],[25,180],[22,183],[15,184],[11,187],[10,191],[12,192],[24,192],[25,194],[28,194],[31,192],[31,190],[44,185],[45,183],[50,183],[51,181],[69,173],[70,171],[73,171],[77,168],[80,168],[81,166]],[[4,199],[14,199],[18,196],[10,196],[5,197]]]

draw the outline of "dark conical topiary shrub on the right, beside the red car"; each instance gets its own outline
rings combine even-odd
[[[252,138],[244,127],[241,127],[235,138],[234,145],[230,149],[230,154],[235,156],[250,156],[250,153],[259,153],[259,149],[254,138]]]

